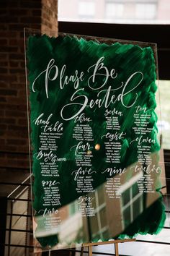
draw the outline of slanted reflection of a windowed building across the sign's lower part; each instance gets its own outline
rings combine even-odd
[[[129,168],[129,171],[132,169]],[[121,179],[127,180],[129,175],[128,172]],[[113,179],[117,179],[117,176]],[[109,198],[106,192],[107,181],[97,187],[94,192],[87,194],[86,197],[81,197],[81,200],[75,200],[63,206],[55,213],[46,216],[35,216],[37,240],[41,242],[43,237],[53,236],[54,241],[58,243],[53,249],[60,249],[62,247],[78,246],[78,244],[89,241],[89,239],[98,241],[110,237],[114,238],[125,229],[130,229],[130,225],[138,218],[143,218],[147,209],[152,207],[153,203],[160,197],[156,192],[146,193],[145,195],[143,192],[139,192],[138,182],[140,179],[141,175],[135,175],[129,179],[130,187],[127,189],[124,189],[125,186],[127,187],[127,183],[122,183],[122,186],[119,187],[120,192],[117,194],[121,196],[117,196],[117,198]],[[93,201],[96,203],[86,202],[84,205],[86,198],[89,196],[94,198]],[[93,212],[91,212],[91,216],[82,216],[82,208],[86,211],[91,207],[94,208],[94,216]],[[36,229],[37,226],[38,229]],[[75,241],[75,244],[73,241]],[[39,251],[40,244],[35,245],[37,251]]]

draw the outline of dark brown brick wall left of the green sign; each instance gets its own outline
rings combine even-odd
[[[0,171],[28,168],[24,27],[57,31],[57,0],[0,1]],[[1,175],[1,173],[0,173]]]

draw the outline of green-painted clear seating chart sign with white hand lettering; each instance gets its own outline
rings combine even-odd
[[[27,38],[37,249],[156,234],[163,225],[155,50]]]

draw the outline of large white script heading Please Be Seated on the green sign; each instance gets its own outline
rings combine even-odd
[[[66,69],[67,69],[66,64],[64,64],[63,67],[61,67],[61,70],[59,70],[58,66],[55,64],[55,60],[50,59],[47,68],[44,71],[42,71],[32,83],[32,91],[35,93],[36,82],[39,80],[39,78],[42,75],[44,75],[46,98],[49,98],[49,93],[48,93],[49,81],[54,81],[59,77],[58,85],[59,85],[59,89],[61,90],[63,90],[66,85],[70,85],[70,84],[73,85],[73,88],[76,91],[71,95],[70,103],[67,103],[66,105],[63,106],[63,108],[61,108],[61,117],[65,121],[75,119],[77,116],[79,116],[79,114],[83,114],[84,109],[87,107],[108,108],[111,104],[114,104],[117,101],[120,101],[122,103],[122,106],[124,106],[125,108],[131,108],[132,106],[135,105],[135,102],[137,101],[137,98],[138,98],[138,93],[135,93],[135,89],[138,88],[140,83],[143,81],[143,73],[140,71],[137,71],[137,72],[134,72],[133,74],[130,74],[126,82],[120,82],[120,84],[118,86],[115,86],[114,89],[112,89],[112,85],[109,85],[108,88],[103,89],[107,85],[109,77],[111,80],[115,82],[118,77],[118,74],[115,69],[109,70],[107,67],[104,66],[104,56],[102,56],[97,60],[95,64],[91,65],[91,67],[89,67],[86,71],[87,74],[90,74],[92,72],[92,74],[88,79],[89,88],[91,90],[99,90],[99,92],[97,93],[97,99],[93,100],[88,98],[88,96],[84,92],[84,88],[79,88],[79,86],[81,85],[81,82],[84,81],[84,72],[83,71],[79,72],[76,69],[73,72],[73,74],[68,76],[66,75]],[[100,79],[100,81],[102,81],[100,84],[98,84],[99,77],[102,77],[102,79]],[[133,85],[133,88],[130,87],[132,82],[135,83]],[[120,89],[121,89],[121,92],[118,95],[115,95],[115,91]],[[131,98],[130,102],[128,102],[127,98],[132,93],[134,94],[133,98]],[[66,117],[66,114],[69,113],[70,108],[73,108],[73,107],[78,108],[76,113]],[[121,112],[119,113],[115,111],[115,114],[118,114],[121,116]],[[40,120],[37,120],[37,123],[38,121]],[[45,127],[45,131],[53,131],[53,127]]]

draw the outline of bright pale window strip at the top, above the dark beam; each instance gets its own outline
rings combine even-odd
[[[58,0],[58,20],[170,24],[169,0]]]

